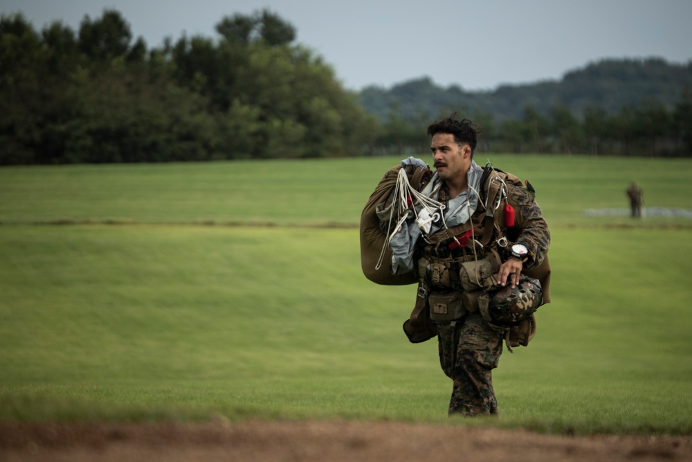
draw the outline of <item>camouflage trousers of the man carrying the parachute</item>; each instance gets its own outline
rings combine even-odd
[[[439,362],[453,380],[449,414],[498,414],[492,371],[502,355],[502,335],[478,313],[437,323]]]

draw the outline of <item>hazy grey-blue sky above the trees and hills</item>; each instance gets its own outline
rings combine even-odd
[[[149,47],[217,37],[236,12],[268,8],[334,67],[349,89],[422,76],[466,90],[559,79],[605,57],[692,60],[691,0],[0,0],[40,30],[114,8]]]

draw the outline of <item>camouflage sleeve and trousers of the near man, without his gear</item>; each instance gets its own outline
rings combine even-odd
[[[518,236],[511,236],[529,249],[525,269],[536,267],[545,256],[550,232],[533,190],[507,181],[508,200],[516,209]],[[491,247],[497,247],[495,236]],[[420,247],[419,247],[420,248]],[[467,313],[457,321],[437,321],[440,365],[453,380],[449,414],[464,416],[496,415],[498,402],[493,390],[492,370],[502,355],[502,332],[482,319],[478,312]]]

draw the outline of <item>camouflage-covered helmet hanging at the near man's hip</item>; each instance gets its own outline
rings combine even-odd
[[[480,314],[493,326],[515,326],[531,316],[542,301],[543,289],[538,279],[522,275],[513,289],[507,285],[489,294],[489,303],[480,304]]]

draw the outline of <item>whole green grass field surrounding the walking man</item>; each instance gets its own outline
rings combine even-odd
[[[536,187],[554,275],[494,425],[692,433],[692,220],[583,213],[633,179],[690,209],[692,161],[491,160]],[[0,420],[448,422],[436,344],[401,332],[415,288],[360,268],[397,161],[0,168]]]

